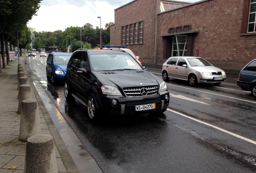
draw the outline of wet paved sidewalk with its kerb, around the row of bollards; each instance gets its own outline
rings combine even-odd
[[[25,76],[29,79],[32,99],[37,100],[42,134],[51,135],[54,139],[58,173],[102,173],[95,160],[82,145],[70,145],[67,148],[63,137],[66,138],[65,142],[68,143],[74,141],[76,135],[74,132],[70,135],[72,130],[60,135],[52,121],[52,116],[47,112],[35,88],[31,76],[29,76],[25,59],[26,56],[21,56],[19,60],[10,62],[6,65],[6,68],[2,68],[2,74],[0,74],[0,173],[23,173],[25,166],[27,143],[19,141],[21,115],[17,112],[19,103],[19,99],[17,99],[18,64],[22,64]],[[56,116],[62,117],[61,114]]]

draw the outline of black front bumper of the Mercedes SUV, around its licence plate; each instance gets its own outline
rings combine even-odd
[[[165,99],[167,96],[168,99]],[[169,105],[169,92],[163,91],[153,97],[123,97],[123,96],[106,96],[98,95],[100,111],[110,114],[144,114],[153,113],[157,111],[165,111]],[[113,105],[112,102],[117,102],[117,105]],[[155,103],[155,109],[136,111],[138,105],[148,105]]]

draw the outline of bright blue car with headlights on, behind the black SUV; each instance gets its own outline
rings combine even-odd
[[[53,84],[64,81],[67,64],[72,53],[52,52],[46,60],[46,76]]]

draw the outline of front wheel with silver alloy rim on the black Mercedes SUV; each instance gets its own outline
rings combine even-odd
[[[98,113],[99,107],[98,103],[96,101],[95,95],[93,93],[90,93],[87,98],[87,111],[89,118],[91,120],[96,120],[99,117]]]

